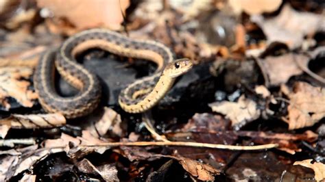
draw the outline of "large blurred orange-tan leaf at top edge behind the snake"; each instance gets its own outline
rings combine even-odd
[[[64,4],[64,5],[62,5]],[[38,0],[37,5],[56,18],[65,18],[77,29],[108,27],[119,29],[129,0]],[[86,13],[85,13],[86,12]],[[123,14],[122,14],[123,12]]]

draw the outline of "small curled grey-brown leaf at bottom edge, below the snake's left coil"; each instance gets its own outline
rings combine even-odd
[[[77,168],[84,173],[99,174],[105,181],[119,181],[117,168],[112,164],[96,167],[88,159],[82,159],[82,161],[77,163]]]

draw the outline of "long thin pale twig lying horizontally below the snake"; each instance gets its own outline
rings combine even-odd
[[[226,149],[231,151],[256,151],[269,148],[276,148],[278,144],[263,144],[256,146],[236,146],[236,145],[224,145],[224,144],[208,144],[198,142],[106,142],[96,145],[80,145],[82,147],[98,147],[98,146],[191,146],[191,147],[204,147],[204,148],[217,148]]]

